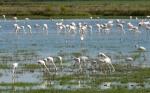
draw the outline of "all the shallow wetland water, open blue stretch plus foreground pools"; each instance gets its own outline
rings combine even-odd
[[[0,82],[12,82],[11,65],[14,62],[18,62],[19,64],[37,64],[37,60],[39,59],[58,55],[64,55],[64,60],[70,60],[73,53],[80,53],[81,55],[94,58],[99,52],[104,52],[111,56],[113,63],[119,64],[121,62],[125,63],[124,59],[128,56],[138,55],[136,60],[133,62],[133,65],[144,68],[150,67],[150,31],[147,32],[145,29],[141,28],[141,33],[130,32],[126,23],[131,22],[137,26],[139,20],[124,19],[125,34],[119,32],[116,26],[113,26],[109,34],[98,33],[96,23],[106,23],[107,21],[108,19],[65,19],[63,21],[64,24],[70,24],[71,22],[78,24],[79,22],[82,22],[92,25],[92,33],[87,33],[85,35],[85,39],[81,41],[79,33],[58,33],[58,30],[56,29],[56,22],[60,22],[60,20],[17,21],[17,24],[19,25],[26,26],[27,24],[30,24],[32,26],[32,34],[27,32],[28,29],[26,27],[26,33],[23,31],[15,33],[13,24],[16,22],[14,20],[1,20],[0,63],[9,64],[10,69],[7,71],[0,69],[0,73],[2,74],[0,75]],[[34,28],[34,25],[37,23],[39,25],[43,25],[44,23],[48,24],[48,34],[44,32],[42,28]],[[137,52],[135,48],[136,44],[144,46],[146,48],[146,52]],[[59,70],[59,76],[74,74],[70,68],[72,64],[73,61],[65,62],[64,65],[68,68]],[[35,70],[35,72],[31,73],[20,68],[17,71],[21,71],[21,73],[17,74],[16,82],[34,83],[43,82],[44,80],[44,74],[41,70]],[[74,71],[76,71],[76,69]],[[57,89],[78,89],[79,85],[71,86],[56,84],[53,87]],[[103,88],[103,86],[100,86],[100,88]]]

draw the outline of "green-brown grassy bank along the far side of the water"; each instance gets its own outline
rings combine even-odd
[[[89,18],[101,16],[147,16],[150,1],[51,1],[51,2],[3,2],[0,15],[30,18]]]

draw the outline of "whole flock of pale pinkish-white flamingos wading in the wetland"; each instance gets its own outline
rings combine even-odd
[[[80,40],[84,40],[85,39],[85,35],[86,33],[92,33],[93,32],[93,27],[96,27],[97,32],[98,33],[105,33],[105,34],[110,34],[111,33],[111,29],[113,27],[116,27],[116,29],[119,32],[122,32],[123,34],[125,34],[127,31],[124,29],[124,26],[126,25],[128,27],[128,31],[131,31],[133,33],[142,33],[139,28],[144,29],[145,31],[147,31],[147,33],[150,32],[150,22],[149,22],[149,18],[150,16],[147,16],[146,19],[138,19],[136,17],[136,20],[138,20],[138,24],[137,25],[133,25],[131,22],[125,22],[124,20],[121,19],[115,19],[115,20],[108,20],[108,22],[106,23],[97,23],[95,24],[95,26],[92,25],[88,25],[86,23],[75,23],[75,22],[71,22],[70,24],[64,24],[63,23],[63,19],[60,22],[56,22],[56,29],[59,33],[71,33],[71,34],[75,34],[75,33],[79,33],[80,35]],[[6,19],[6,16],[3,15],[3,19]],[[92,17],[90,17],[90,19],[92,20]],[[130,19],[132,19],[132,16],[130,16]],[[17,17],[13,17],[13,20],[16,22],[14,24],[14,32],[15,33],[19,33],[19,32],[23,32],[23,33],[30,33],[32,34],[32,29],[33,28],[38,28],[43,30],[45,33],[48,34],[49,28],[48,28],[48,24],[34,24],[33,26],[27,24],[27,25],[19,25],[17,22],[18,18]],[[26,21],[30,20],[29,18],[25,18]],[[25,27],[27,28],[27,30],[25,30]],[[146,48],[143,46],[138,46],[136,45],[136,48],[138,51],[140,52],[144,52],[146,51]],[[54,58],[56,57],[52,57],[49,56],[47,58],[43,58],[41,60],[38,60],[37,63],[41,65],[41,67],[44,67],[44,71],[47,71],[49,74],[51,74],[50,71],[50,65],[53,65],[55,72],[58,71],[58,69],[63,69],[63,57],[61,56],[57,56],[57,58],[59,59],[60,62],[60,66],[57,66],[55,64]],[[79,57],[72,57],[72,60],[74,60],[74,67],[77,67],[76,69],[78,69],[78,71],[80,73],[84,72],[84,69],[90,65],[92,72],[97,72],[97,70],[101,70],[102,72],[115,72],[115,67],[112,64],[112,60],[111,58],[106,55],[105,53],[98,53],[96,58],[89,58],[88,56],[79,56]],[[127,57],[125,59],[126,61],[134,61],[134,59],[132,57]],[[18,63],[13,63],[13,78],[15,78],[15,69],[18,67]],[[59,67],[59,68],[58,68]]]

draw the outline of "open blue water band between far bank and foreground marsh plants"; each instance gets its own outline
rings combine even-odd
[[[144,46],[147,51],[150,48],[150,37],[144,29],[141,29],[142,33],[132,33],[127,29],[127,22],[131,22],[134,25],[138,24],[138,20],[127,20],[124,25],[126,34],[119,33],[117,28],[114,26],[110,34],[100,34],[97,33],[96,23],[106,23],[106,19],[68,19],[64,20],[64,24],[70,24],[75,22],[86,23],[93,26],[92,34],[86,34],[83,41],[80,40],[79,34],[65,35],[58,34],[56,29],[56,22],[60,20],[18,20],[17,24],[26,25],[30,24],[32,27],[38,23],[43,25],[48,24],[49,33],[45,34],[42,30],[37,30],[32,28],[32,34],[18,33],[14,31],[13,24],[16,23],[13,20],[7,20],[0,22],[2,26],[0,32],[0,50],[8,54],[13,54],[17,50],[32,50],[38,55],[45,56],[55,56],[59,51],[65,52],[76,52],[81,49],[86,49],[88,55],[96,55],[99,51],[101,52],[114,52],[114,53],[130,53],[135,51],[135,45]],[[25,28],[27,30],[27,28]],[[146,53],[149,55],[149,52]]]

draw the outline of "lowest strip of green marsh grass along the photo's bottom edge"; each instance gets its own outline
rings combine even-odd
[[[10,90],[0,90],[0,92],[9,92]],[[108,90],[97,90],[95,88],[89,89],[78,89],[78,90],[56,90],[56,89],[36,89],[36,90],[17,90],[15,93],[148,93],[149,89],[136,89],[136,90],[128,90],[126,88],[117,88],[117,89],[108,89]]]

